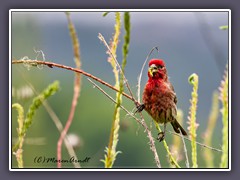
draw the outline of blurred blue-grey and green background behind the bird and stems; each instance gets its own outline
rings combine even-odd
[[[183,126],[187,127],[192,86],[188,77],[192,73],[199,75],[199,103],[197,111],[197,141],[203,141],[211,108],[212,93],[218,89],[228,59],[228,31],[222,31],[219,26],[228,24],[227,12],[132,12],[131,39],[126,77],[131,88],[136,92],[137,77],[141,66],[152,47],[158,46],[160,53],[154,52],[152,58],[162,58],[166,62],[170,81],[178,96],[178,108],[184,112]],[[110,40],[114,32],[114,14],[102,17],[102,12],[73,12],[72,21],[78,33],[82,68],[110,84],[114,84],[114,76],[107,62],[106,48],[98,39],[101,33]],[[12,12],[12,59],[28,56],[35,59],[36,50],[42,50],[46,61],[52,61],[74,67],[73,50],[69,36],[66,16],[63,12]],[[124,29],[122,27],[117,58],[121,62]],[[38,59],[41,59],[39,56]],[[73,96],[74,73],[58,68],[43,69],[23,65],[12,65],[12,88],[14,91],[29,83],[41,92],[54,80],[60,81],[61,90],[48,99],[49,104],[65,125],[69,115]],[[147,81],[147,68],[144,70],[142,87]],[[103,168],[100,162],[104,159],[104,150],[108,145],[112,124],[114,103],[82,77],[81,95],[76,108],[69,134],[80,137],[80,147],[76,148],[79,159],[90,157],[88,163],[81,165],[86,168]],[[109,94],[115,97],[115,92],[101,85]],[[127,92],[127,91],[126,91]],[[36,94],[34,95],[36,96]],[[31,98],[12,97],[12,103],[18,102],[24,106],[25,113],[32,102]],[[134,104],[123,99],[123,105],[132,111]],[[144,113],[148,125],[151,118]],[[12,142],[17,137],[17,113],[12,111]],[[121,168],[151,168],[156,167],[153,154],[149,149],[148,138],[143,128],[134,119],[121,112],[121,129],[117,150],[122,153],[117,156],[114,167]],[[168,130],[172,127],[168,125]],[[213,147],[221,148],[222,122],[219,116],[213,134]],[[154,137],[157,131],[152,124]],[[36,156],[56,157],[59,132],[46,109],[41,106],[37,111],[26,139],[35,142],[23,146],[23,160],[26,168],[56,168],[56,164],[34,163]],[[42,138],[43,143],[37,139]],[[166,140],[172,143],[172,135],[167,134]],[[36,145],[37,144],[37,145]],[[188,154],[191,157],[190,142],[186,141]],[[156,142],[157,151],[163,167],[168,168],[168,158],[162,143]],[[204,148],[198,146],[199,167],[205,167],[202,156]],[[62,158],[69,159],[65,146],[62,148]],[[215,165],[219,166],[220,153],[214,152]],[[191,160],[191,158],[190,158]],[[180,165],[185,167],[184,160]],[[191,163],[190,163],[191,165]],[[17,167],[15,156],[12,156],[12,167]],[[72,168],[72,164],[63,164]]]

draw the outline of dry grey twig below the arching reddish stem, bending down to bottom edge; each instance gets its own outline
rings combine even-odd
[[[115,101],[115,99],[113,99],[109,94],[107,94],[102,88],[100,88],[96,83],[94,83],[91,79],[88,78],[88,81],[90,81],[94,87],[96,87],[97,89],[99,89],[104,95],[106,95],[111,101],[113,101],[114,103],[117,103]],[[139,120],[138,118],[136,118],[131,112],[129,112],[126,108],[124,108],[122,105],[120,105],[120,107],[128,114],[130,115],[132,118],[134,118],[139,124],[141,124],[143,126],[143,128],[146,130],[147,134],[148,134],[148,138],[150,140],[150,149],[152,150],[153,154],[154,154],[154,159],[155,159],[155,162],[157,164],[157,167],[158,168],[161,168],[161,164],[160,164],[160,160],[159,160],[159,157],[158,157],[158,154],[157,154],[157,150],[156,150],[156,147],[155,147],[155,144],[154,144],[154,139],[152,137],[152,133],[151,131],[149,130],[149,128],[147,127],[145,121],[142,119],[142,120]]]

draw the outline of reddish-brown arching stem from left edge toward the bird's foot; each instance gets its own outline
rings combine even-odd
[[[32,65],[32,66],[36,66],[38,64],[43,64],[43,65],[46,65],[50,68],[58,67],[58,68],[66,69],[66,70],[69,70],[69,71],[81,73],[82,75],[87,76],[91,79],[94,79],[95,81],[100,82],[101,84],[109,87],[110,89],[112,89],[116,92],[119,92],[119,89],[117,89],[114,86],[110,85],[109,83],[103,81],[102,79],[100,79],[96,76],[93,76],[92,74],[87,73],[87,72],[85,72],[81,69],[73,68],[73,67],[70,67],[70,66],[65,66],[65,65],[62,65],[62,64],[57,64],[57,63],[47,62],[47,61],[39,61],[39,60],[13,60],[12,64],[29,64],[29,65]],[[124,92],[122,93],[122,95],[125,96],[126,98],[130,99],[130,100],[133,100],[131,96],[129,96],[128,94],[126,94]]]

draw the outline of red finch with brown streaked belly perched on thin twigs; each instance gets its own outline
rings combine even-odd
[[[143,104],[138,112],[145,109],[157,123],[164,124],[163,132],[158,134],[158,140],[165,136],[166,124],[170,122],[176,133],[186,131],[177,122],[177,96],[173,86],[168,80],[167,69],[163,60],[152,59],[149,62],[148,81],[143,92]],[[179,131],[180,129],[180,131]]]

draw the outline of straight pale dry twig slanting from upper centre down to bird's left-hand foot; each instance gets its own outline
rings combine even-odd
[[[104,45],[107,47],[109,54],[112,56],[112,58],[114,59],[115,63],[117,64],[117,66],[118,66],[118,68],[119,68],[119,70],[120,70],[120,72],[121,72],[121,74],[122,74],[122,76],[123,76],[123,78],[124,78],[124,84],[126,84],[127,89],[128,89],[128,91],[129,91],[129,93],[130,93],[131,100],[132,100],[132,101],[135,103],[135,105],[137,106],[137,105],[138,105],[138,102],[134,99],[134,96],[133,96],[132,90],[131,90],[131,88],[130,88],[130,86],[129,86],[129,83],[128,83],[128,81],[127,81],[127,79],[126,79],[126,77],[125,77],[125,75],[124,75],[124,72],[123,72],[121,66],[119,65],[116,57],[113,55],[110,47],[108,46],[106,40],[104,39],[104,37],[102,36],[101,33],[98,34],[98,38],[99,38],[99,39],[104,43]]]

